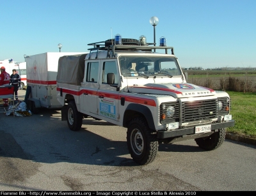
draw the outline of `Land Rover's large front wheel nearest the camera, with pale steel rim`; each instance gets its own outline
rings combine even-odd
[[[151,163],[156,158],[157,135],[148,128],[144,118],[132,119],[127,129],[127,146],[134,162],[140,165]]]

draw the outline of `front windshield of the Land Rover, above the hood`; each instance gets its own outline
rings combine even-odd
[[[173,77],[181,75],[175,57],[120,56],[119,64],[124,77]]]

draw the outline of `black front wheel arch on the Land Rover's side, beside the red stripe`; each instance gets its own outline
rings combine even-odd
[[[123,120],[123,126],[128,127],[129,122],[134,117],[141,117],[143,116],[148,123],[148,127],[152,130],[156,130],[155,124],[154,124],[154,118],[152,116],[152,113],[148,107],[145,105],[138,105],[136,103],[131,103],[127,106],[125,112],[124,112],[124,120]]]

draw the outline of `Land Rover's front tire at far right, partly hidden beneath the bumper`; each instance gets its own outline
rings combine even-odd
[[[221,128],[218,132],[212,133],[208,137],[195,139],[196,144],[207,151],[212,151],[221,146],[226,136],[225,128]]]

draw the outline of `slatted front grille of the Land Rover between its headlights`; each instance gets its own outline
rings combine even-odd
[[[182,102],[182,123],[211,119],[218,115],[218,99]]]

